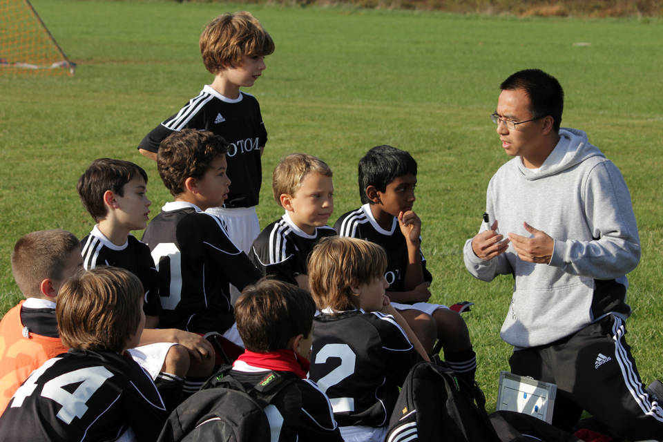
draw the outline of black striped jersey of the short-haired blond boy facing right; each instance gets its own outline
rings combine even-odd
[[[253,241],[249,258],[263,276],[297,285],[295,276],[308,273],[309,254],[315,245],[326,236],[335,235],[336,231],[327,226],[318,227],[314,235],[308,235],[285,213],[260,232]]]

